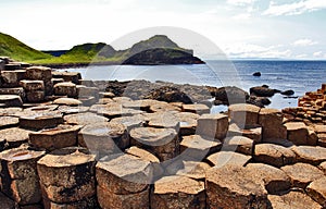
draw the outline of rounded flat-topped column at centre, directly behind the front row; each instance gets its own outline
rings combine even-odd
[[[161,161],[178,155],[178,135],[173,128],[136,127],[130,131],[131,145],[154,153]]]

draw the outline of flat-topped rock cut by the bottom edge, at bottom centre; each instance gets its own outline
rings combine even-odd
[[[204,183],[186,176],[165,176],[156,181],[151,208],[205,208]]]

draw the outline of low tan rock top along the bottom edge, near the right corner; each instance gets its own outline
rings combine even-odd
[[[302,192],[291,190],[284,195],[268,195],[274,209],[322,209],[322,207]]]

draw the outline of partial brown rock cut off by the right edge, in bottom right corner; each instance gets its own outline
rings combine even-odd
[[[326,208],[326,176],[313,181],[306,187],[308,195],[317,201],[323,208]]]

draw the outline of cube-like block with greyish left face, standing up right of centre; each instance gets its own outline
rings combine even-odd
[[[223,140],[228,130],[228,118],[224,114],[202,114],[198,119],[196,134]]]

